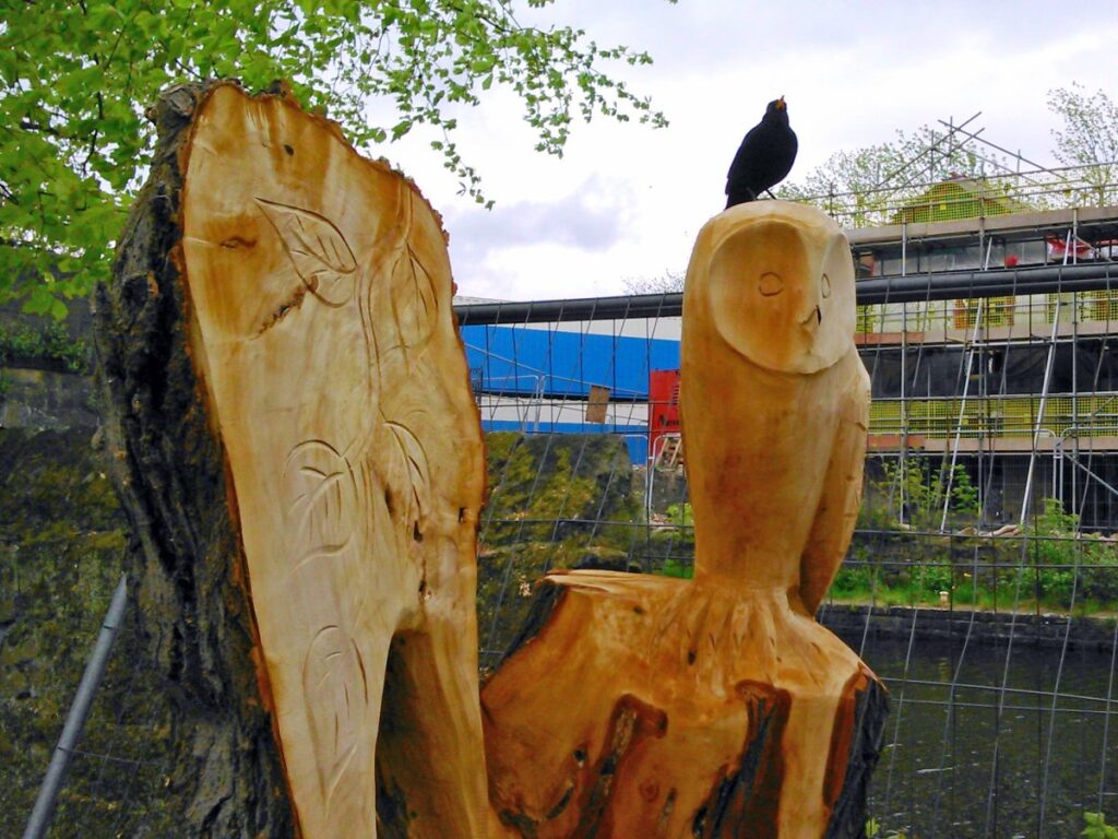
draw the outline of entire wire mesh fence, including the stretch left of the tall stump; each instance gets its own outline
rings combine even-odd
[[[1100,291],[1112,293],[1055,293],[1061,309],[1082,312]],[[1049,298],[1033,296],[1013,305],[1050,311]],[[1021,317],[1006,330],[988,301],[967,301],[976,314],[964,328],[917,334],[907,324],[942,304],[887,300],[875,304],[879,322],[902,328],[881,327],[859,345],[874,392],[864,502],[819,620],[892,692],[870,799],[882,837],[1062,837],[1077,835],[1088,812],[1118,819],[1110,320],[1088,330],[1054,317],[1026,329]],[[600,319],[572,305],[522,323],[464,313],[487,443],[483,670],[499,666],[551,568],[692,572],[680,321],[662,309]],[[0,805],[16,814],[0,827],[6,836],[21,830],[49,762],[125,530],[119,511],[91,500],[104,488],[95,463],[78,464],[79,480],[65,487],[20,463],[27,492],[9,479],[6,515],[19,506],[41,515],[0,540],[0,747],[11,755],[0,761]],[[41,498],[36,487],[46,488]],[[47,510],[83,503],[101,512],[50,535]],[[117,641],[50,836],[176,835],[160,807],[168,699],[144,663],[150,639],[132,626]]]

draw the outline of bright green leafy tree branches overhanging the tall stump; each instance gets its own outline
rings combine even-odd
[[[362,143],[402,140],[429,125],[443,135],[432,149],[463,192],[485,206],[480,176],[451,132],[462,106],[477,105],[494,83],[524,102],[549,153],[561,153],[576,115],[650,114],[608,73],[644,63],[642,53],[599,48],[569,27],[525,28],[504,0],[19,6],[0,28],[0,124],[38,128],[0,132],[0,182],[35,198],[0,201],[0,229],[37,249],[0,251],[0,296],[22,296],[44,314],[57,315],[64,296],[87,293],[108,275],[112,242],[151,157],[154,132],[143,111],[184,78],[237,75],[259,87],[286,76],[305,104],[329,112]],[[390,130],[368,123],[372,102],[395,109],[381,122]],[[648,119],[663,124],[662,114]],[[27,280],[49,277],[69,261],[78,265],[72,275]]]

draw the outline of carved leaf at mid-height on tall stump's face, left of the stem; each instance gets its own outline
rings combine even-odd
[[[357,479],[337,449],[322,440],[296,445],[284,464],[284,500],[297,539],[294,568],[345,552],[358,509]]]

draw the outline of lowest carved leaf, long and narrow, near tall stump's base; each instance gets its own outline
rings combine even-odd
[[[311,641],[303,661],[303,695],[320,791],[329,805],[357,752],[369,704],[361,653],[340,626],[324,626]]]

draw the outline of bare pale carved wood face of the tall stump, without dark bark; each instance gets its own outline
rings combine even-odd
[[[169,103],[183,123],[164,143],[170,171],[125,239],[143,238],[162,196],[177,211],[143,258],[172,268],[145,291],[119,276],[103,320],[120,331],[136,291],[178,299],[160,317],[200,397],[180,409],[205,417],[224,461],[210,500],[239,548],[238,620],[299,830],[495,836],[474,611],[485,470],[439,218],[282,93],[216,84]],[[130,371],[120,342],[103,343],[117,405],[165,374]],[[149,480],[152,449],[189,462],[131,422],[125,481]]]

